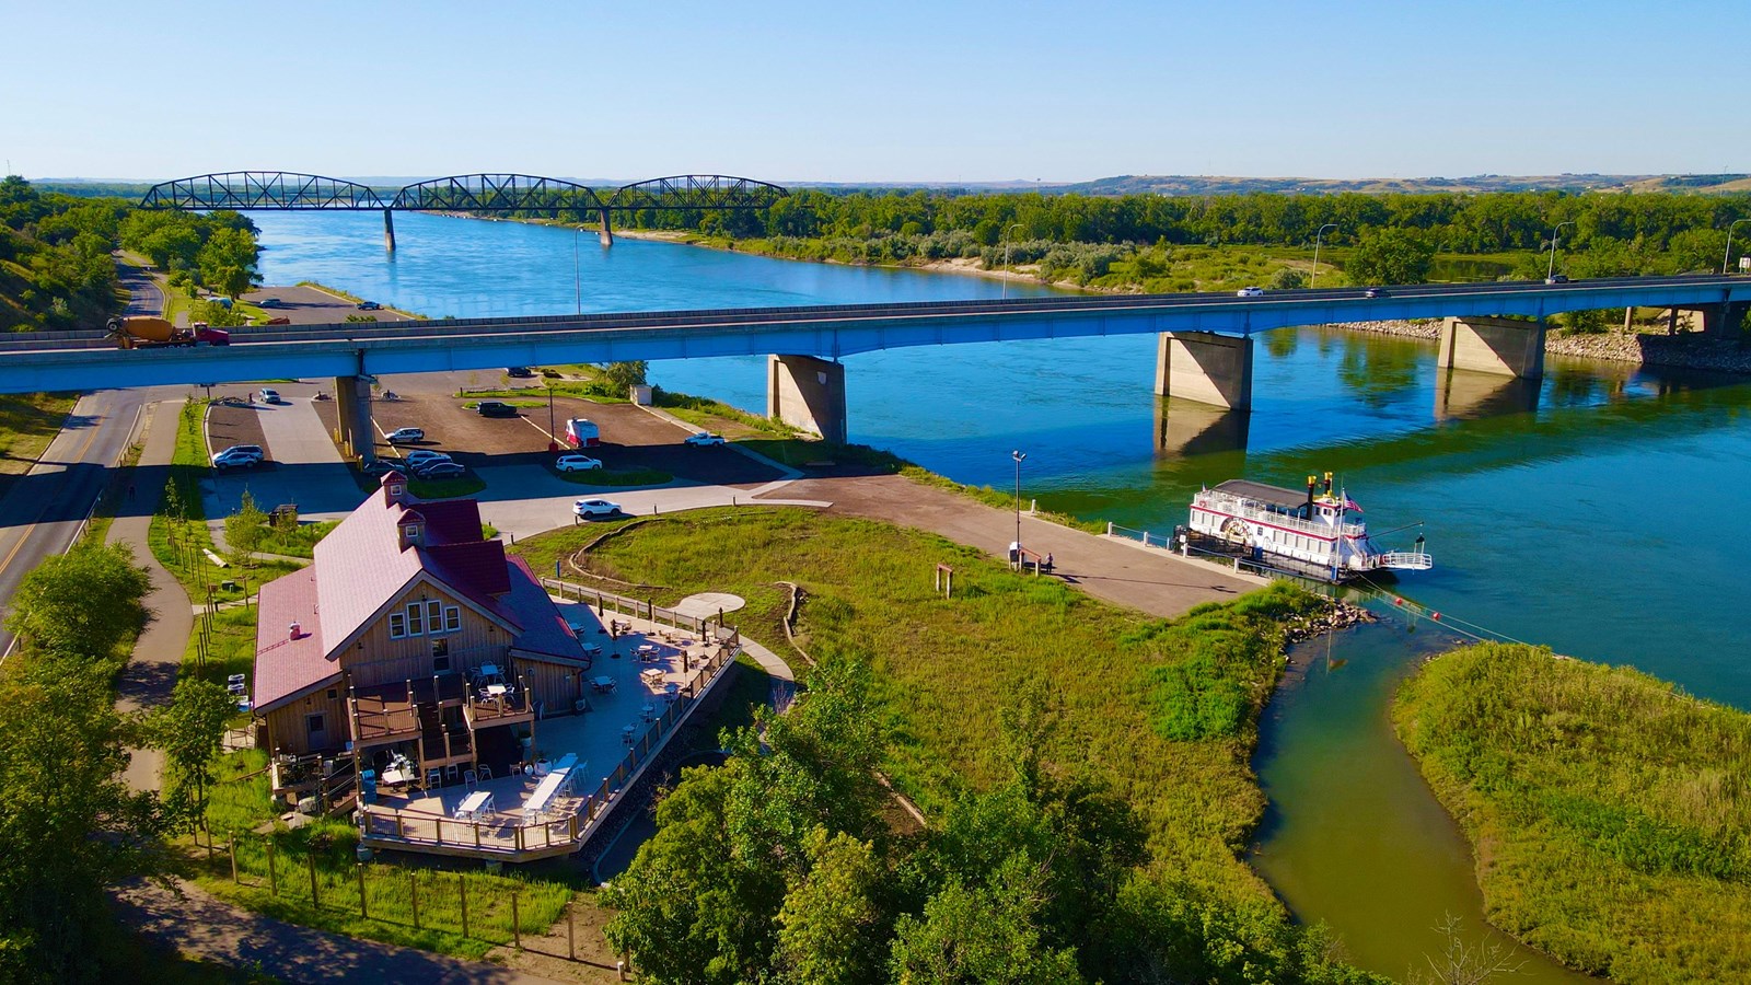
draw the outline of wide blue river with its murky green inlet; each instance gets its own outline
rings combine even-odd
[[[434,317],[995,298],[982,279],[790,263],[517,223],[257,214],[270,284],[320,280]],[[576,252],[574,252],[576,251]],[[574,259],[576,258],[576,259]],[[1009,286],[1010,294],[1042,287]],[[580,305],[581,298],[581,305]],[[1751,706],[1735,594],[1751,489],[1751,382],[1550,359],[1539,384],[1459,375],[1429,344],[1326,330],[1261,337],[1250,421],[1150,393],[1152,337],[898,349],[846,359],[851,436],[961,482],[1003,487],[1028,452],[1042,507],[1166,533],[1205,482],[1297,485],[1336,471],[1375,531],[1424,524],[1436,570],[1401,594],[1450,624],[1635,664]],[[760,410],[763,359],[653,363],[651,379]],[[1196,454],[1156,435],[1203,431]],[[1205,429],[1206,424],[1213,424]],[[1383,536],[1408,543],[1417,529]],[[1390,606],[1389,606],[1390,608]],[[1268,710],[1255,768],[1271,797],[1255,864],[1352,957],[1404,976],[1445,913],[1480,934],[1464,841],[1397,747],[1387,705],[1420,655],[1457,636],[1429,622],[1345,633],[1310,652]],[[1534,959],[1520,981],[1578,980]]]

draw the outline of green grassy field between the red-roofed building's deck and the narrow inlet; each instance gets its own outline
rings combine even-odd
[[[515,550],[546,570],[602,531],[553,531]],[[932,591],[939,563],[954,566],[954,599]],[[998,717],[1017,691],[1045,687],[1065,708],[1049,759],[1129,799],[1161,873],[1275,906],[1238,859],[1264,808],[1247,761],[1282,661],[1276,617],[1308,596],[1278,587],[1170,624],[933,535],[802,510],[644,522],[590,564],[655,585],[658,605],[707,589],[741,594],[739,624],[762,640],[784,638],[788,596],[776,582],[802,584],[804,647],[872,663],[897,736],[886,768],[926,813],[1003,773]]]

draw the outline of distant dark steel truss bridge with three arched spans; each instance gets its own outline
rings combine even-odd
[[[271,212],[364,212],[382,209],[383,245],[396,249],[396,212],[552,212],[595,214],[602,245],[615,242],[613,212],[746,212],[770,209],[786,189],[734,175],[653,177],[613,189],[595,189],[557,177],[520,174],[448,175],[399,189],[296,172],[224,172],[154,184],[140,209],[210,209]]]

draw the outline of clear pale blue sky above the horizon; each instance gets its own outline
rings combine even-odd
[[[0,156],[124,179],[1751,172],[1742,14],[0,0]]]

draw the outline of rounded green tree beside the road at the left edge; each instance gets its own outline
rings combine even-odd
[[[145,624],[151,584],[128,545],[81,545],[25,577],[7,629],[35,650],[110,661]]]

